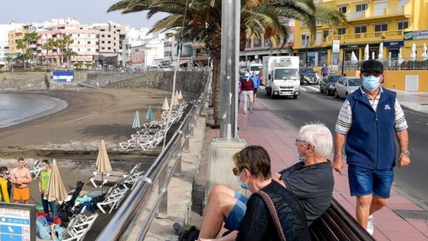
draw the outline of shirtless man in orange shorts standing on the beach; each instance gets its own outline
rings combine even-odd
[[[14,188],[13,199],[15,203],[19,203],[22,199],[24,203],[28,204],[30,199],[30,188],[28,185],[31,183],[30,171],[24,167],[24,158],[18,158],[18,167],[14,168],[11,172],[10,180]]]

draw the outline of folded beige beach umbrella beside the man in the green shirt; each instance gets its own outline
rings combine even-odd
[[[44,199],[48,200],[48,202],[53,202],[64,201],[67,197],[67,190],[62,182],[56,160],[54,159],[51,167],[51,177],[48,181],[48,188],[46,189]]]

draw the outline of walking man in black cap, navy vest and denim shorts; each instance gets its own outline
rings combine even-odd
[[[345,146],[351,196],[357,196],[357,221],[373,234],[373,213],[388,204],[394,178],[395,138],[398,167],[410,164],[409,134],[396,93],[380,87],[382,63],[362,63],[362,87],[346,97],[336,122],[333,168],[342,175]]]

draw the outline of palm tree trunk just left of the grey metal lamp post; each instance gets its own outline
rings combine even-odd
[[[220,55],[213,56],[213,109],[214,109],[214,127],[220,127],[220,101],[221,101],[221,73]]]

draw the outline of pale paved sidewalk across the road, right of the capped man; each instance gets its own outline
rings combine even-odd
[[[428,92],[391,90],[397,93],[397,99],[403,107],[428,114]]]

